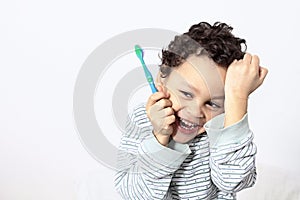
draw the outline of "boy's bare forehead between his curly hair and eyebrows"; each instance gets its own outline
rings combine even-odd
[[[218,66],[212,59],[196,55],[188,57],[170,74],[177,84],[188,84],[196,89],[206,87],[213,93],[223,90],[225,75],[226,69]]]

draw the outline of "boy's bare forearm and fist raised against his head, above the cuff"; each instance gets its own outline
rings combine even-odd
[[[225,80],[225,122],[230,126],[247,113],[248,97],[264,81],[268,70],[259,66],[259,58],[246,53],[228,67]]]

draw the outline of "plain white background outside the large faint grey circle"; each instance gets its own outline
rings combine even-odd
[[[114,172],[92,158],[75,129],[72,95],[80,67],[117,34],[139,28],[185,32],[200,21],[232,25],[269,69],[264,85],[250,97],[257,162],[299,175],[297,4],[1,1],[0,199],[70,200],[84,188],[89,191],[80,194],[90,199],[117,199]],[[114,126],[109,116],[107,123]]]

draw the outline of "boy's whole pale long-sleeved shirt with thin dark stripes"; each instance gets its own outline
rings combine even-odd
[[[161,145],[144,106],[129,116],[118,153],[115,188],[123,199],[236,199],[255,183],[256,146],[247,114],[223,128],[224,114],[187,144]]]

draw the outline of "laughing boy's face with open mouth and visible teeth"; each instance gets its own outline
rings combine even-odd
[[[203,133],[203,125],[224,112],[226,69],[207,56],[190,56],[162,80],[175,111],[173,139],[186,143]]]

